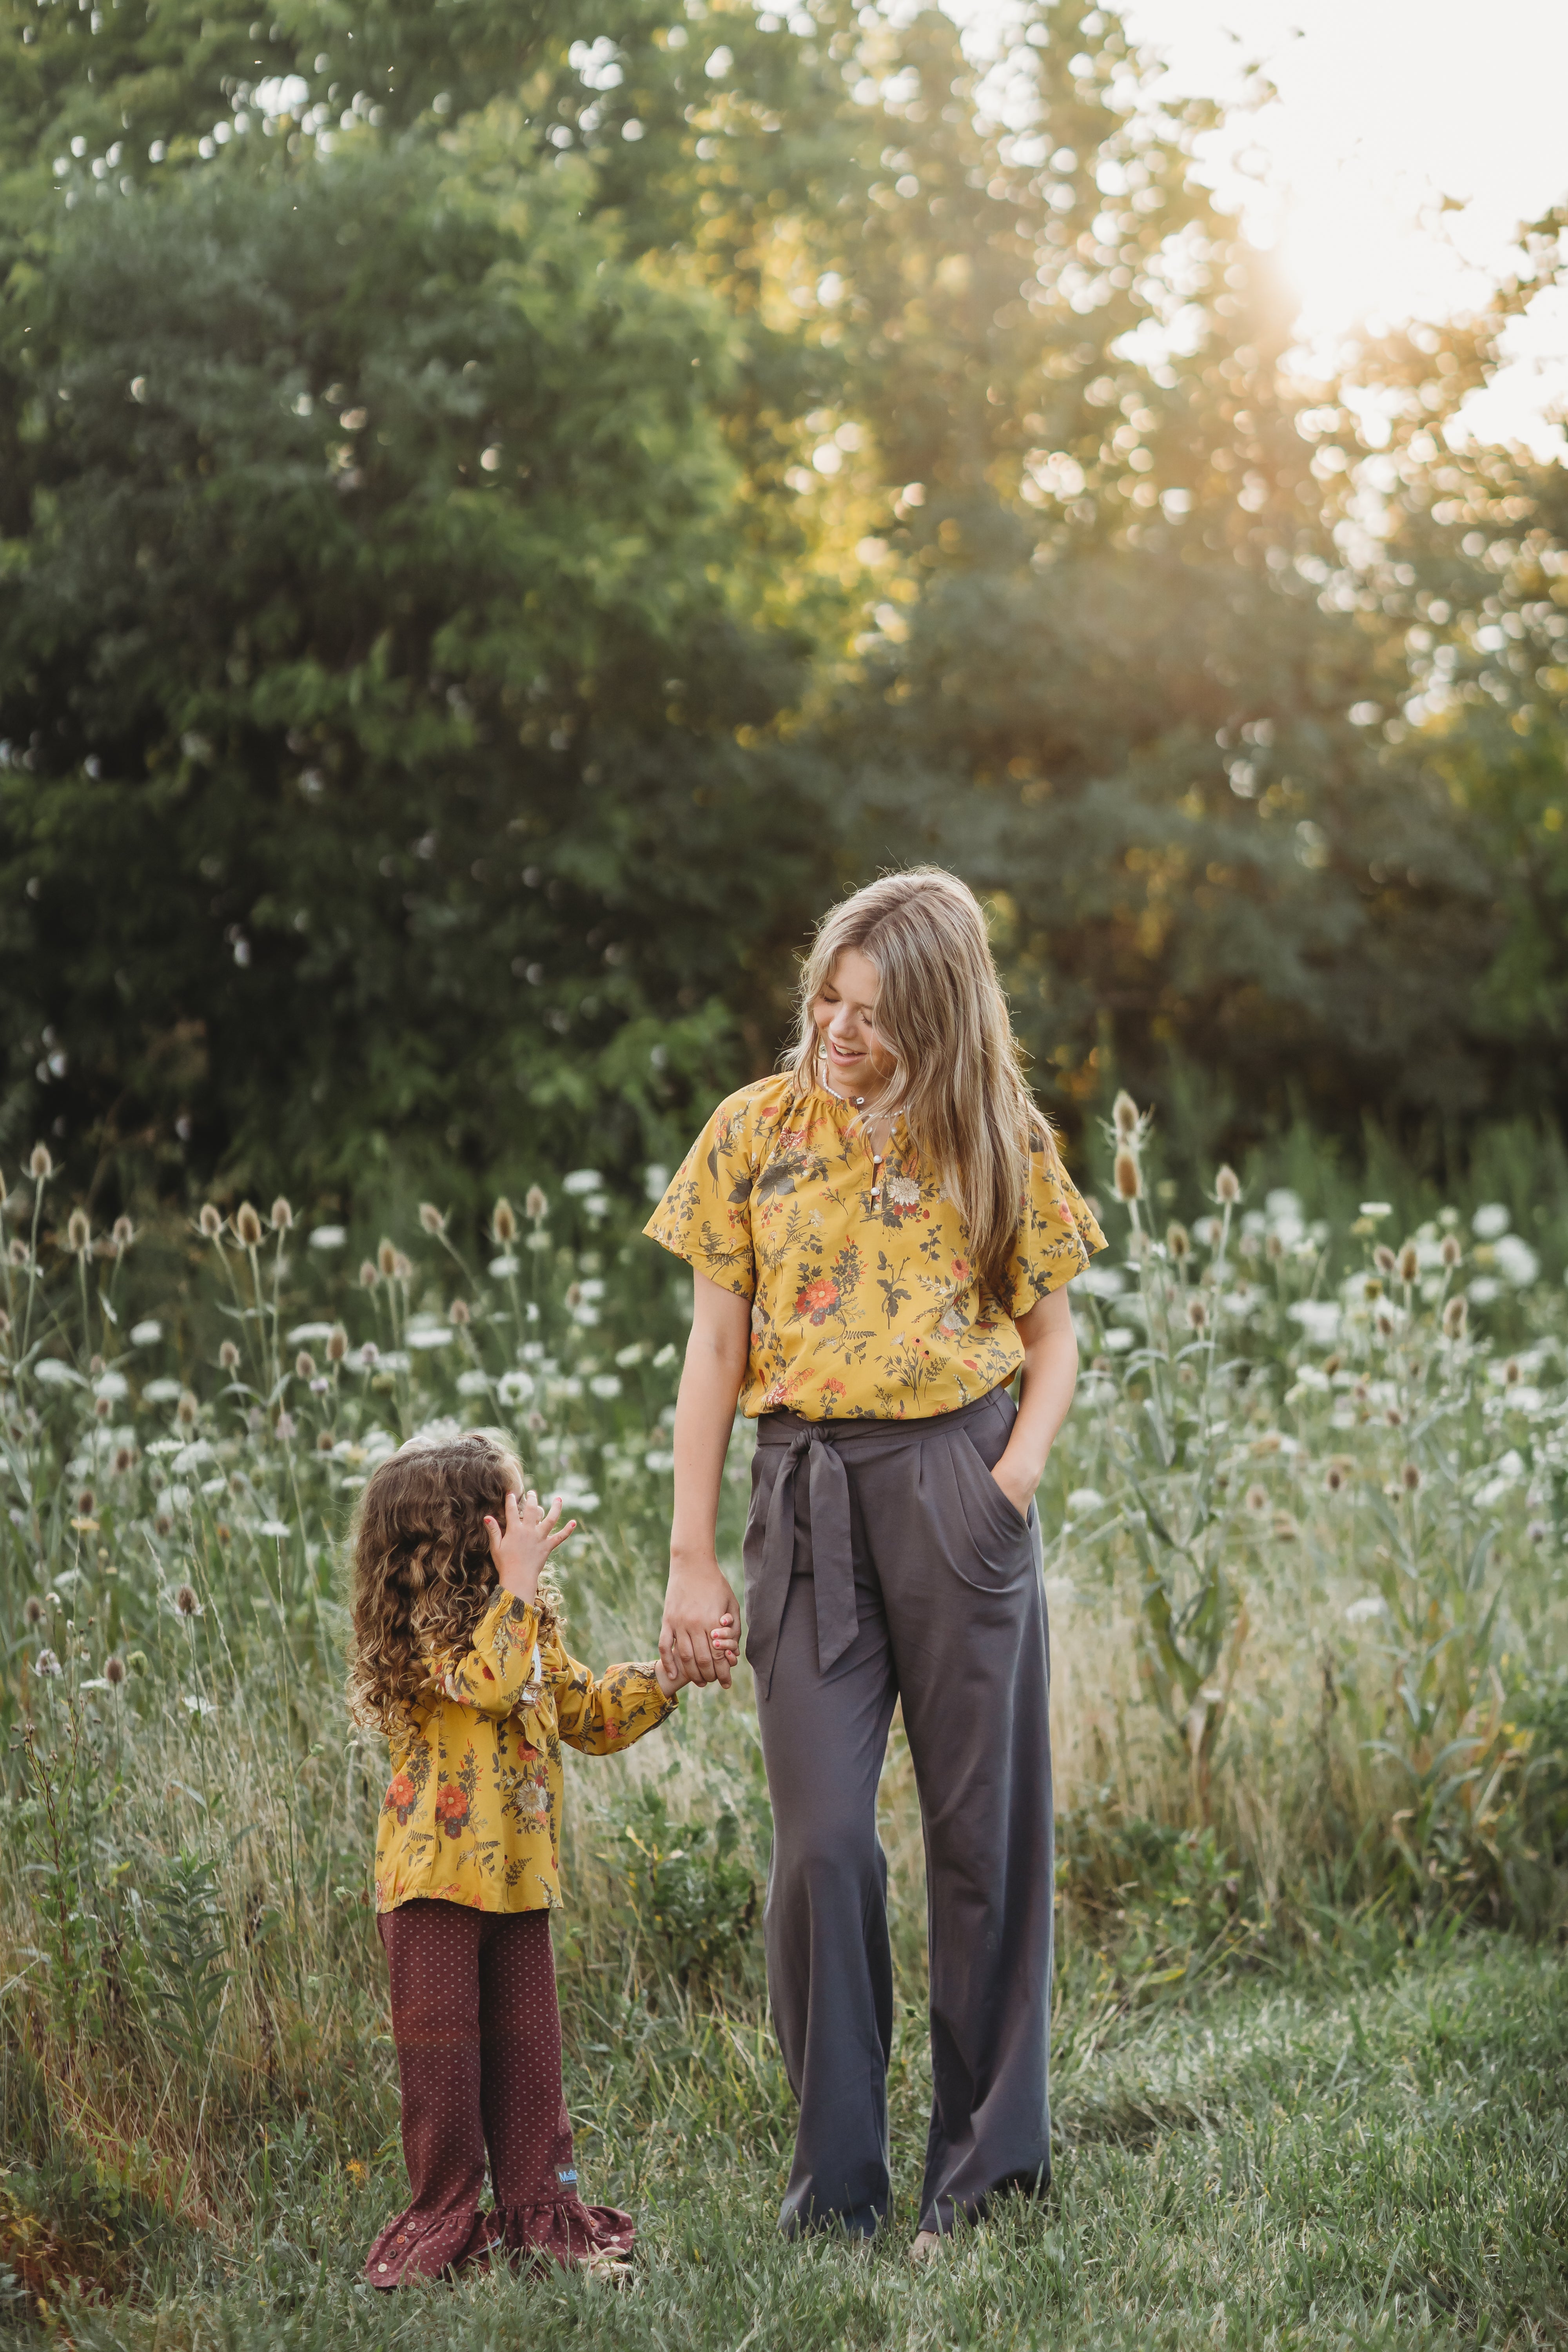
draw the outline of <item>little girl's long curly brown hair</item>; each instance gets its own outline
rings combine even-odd
[[[348,1712],[395,1736],[430,1689],[430,1658],[473,1649],[496,1597],[484,1515],[505,1522],[522,1465],[473,1430],[381,1463],[355,1515]]]

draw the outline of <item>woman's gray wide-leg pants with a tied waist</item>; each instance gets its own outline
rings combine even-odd
[[[748,1658],[773,1799],[766,1962],[799,2098],[788,2232],[889,2209],[893,1969],[877,1780],[914,1759],[931,1940],[922,2230],[1051,2176],[1051,1719],[1039,1522],[990,1475],[1006,1390],[931,1421],[757,1425]]]

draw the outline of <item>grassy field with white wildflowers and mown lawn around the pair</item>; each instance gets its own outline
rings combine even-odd
[[[686,1279],[590,1169],[364,1230],[284,1200],[99,1230],[42,1148],[5,1171],[7,2326],[160,2352],[1563,2338],[1561,1152],[1514,1136],[1443,1202],[1298,1141],[1182,1197],[1124,1098],[1079,1174],[1112,1249],[1074,1289],[1084,1378],[1039,1496],[1048,2197],[922,2274],[898,2232],[776,2241],[792,2110],[741,1672],[569,1780],[569,2100],[585,2192],[639,2218],[637,2281],[386,2303],[357,2284],[402,2197],[386,1762],[341,1703],[343,1529],[407,1435],[505,1428],[585,1524],[569,1646],[649,1656]],[[884,1842],[912,2225],[898,1729]]]

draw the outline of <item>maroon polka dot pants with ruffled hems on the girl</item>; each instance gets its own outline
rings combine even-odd
[[[562,2098],[550,1912],[402,1903],[376,1922],[393,1978],[411,2199],[369,2251],[371,2286],[487,2265],[628,2256],[632,2223],[585,2206]],[[494,2209],[480,2213],[484,2157]]]

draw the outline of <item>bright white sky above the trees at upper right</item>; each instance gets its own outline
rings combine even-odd
[[[1568,198],[1568,0],[1126,0],[1124,16],[1173,89],[1234,96],[1251,64],[1276,85],[1206,172],[1279,245],[1307,346],[1359,313],[1469,308],[1516,223]],[[1439,198],[1462,209],[1434,219]],[[1472,430],[1561,456],[1568,294],[1537,299],[1507,353]]]

